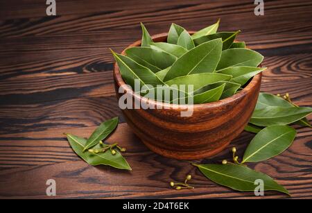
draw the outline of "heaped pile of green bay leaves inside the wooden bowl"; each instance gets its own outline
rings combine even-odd
[[[218,25],[219,21],[190,35],[172,24],[167,42],[153,42],[141,24],[141,46],[126,49],[126,56],[112,51],[123,80],[132,89],[137,80],[141,94],[169,103],[187,103],[190,98],[195,104],[209,103],[232,96],[266,68],[257,67],[263,60],[260,53],[245,48],[245,42],[234,42],[240,31],[217,33]],[[156,87],[157,92],[177,95],[156,95]]]

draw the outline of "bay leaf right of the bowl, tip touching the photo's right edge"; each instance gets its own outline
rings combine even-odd
[[[286,125],[306,117],[311,112],[312,108],[268,106],[254,110],[249,122],[256,126]]]

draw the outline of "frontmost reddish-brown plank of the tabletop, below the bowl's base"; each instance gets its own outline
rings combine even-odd
[[[71,128],[70,133],[87,137],[93,128]],[[53,178],[57,183],[58,198],[250,198],[252,193],[239,193],[220,187],[203,177],[189,162],[169,160],[148,151],[139,142],[128,125],[120,124],[107,140],[119,142],[128,151],[125,157],[132,171],[117,171],[110,167],[92,167],[76,156],[62,135],[62,130],[45,130],[17,133],[19,139],[1,138],[0,171],[1,198],[46,198],[45,182]],[[50,138],[46,140],[46,138]],[[252,138],[242,133],[232,142],[241,156]],[[4,139],[4,141],[3,141]],[[307,142],[312,137],[308,128],[299,128],[295,142],[288,151],[258,164],[250,164],[258,171],[268,173],[284,185],[293,197],[311,198],[311,148]],[[231,157],[228,149],[204,162],[220,162]],[[18,165],[17,165],[18,164]],[[31,164],[31,165],[30,165]],[[192,190],[176,191],[168,187],[171,180],[182,181],[191,173]],[[121,175],[122,174],[122,175]],[[295,174],[295,175],[294,175]],[[23,180],[21,182],[20,180]],[[276,192],[266,193],[266,198],[286,198]]]

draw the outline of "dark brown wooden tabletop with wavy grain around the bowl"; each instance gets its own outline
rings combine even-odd
[[[188,162],[148,150],[121,116],[114,94],[113,58],[141,37],[171,22],[198,30],[216,22],[220,30],[241,29],[239,40],[265,56],[261,91],[289,92],[299,105],[312,105],[312,2],[265,1],[254,15],[253,1],[57,1],[47,17],[45,1],[0,1],[0,198],[51,198],[46,180],[56,180],[56,198],[254,198],[220,187]],[[92,167],[73,153],[62,133],[89,136],[111,117],[120,124],[108,142],[128,149],[132,171]],[[309,117],[311,121],[311,117]],[[297,128],[293,146],[250,167],[268,173],[293,198],[312,198],[312,131]],[[233,145],[241,156],[253,135]],[[227,149],[202,162],[230,159]],[[168,182],[191,173],[192,190]],[[266,198],[287,198],[266,192]]]

